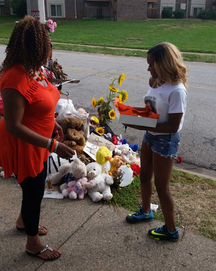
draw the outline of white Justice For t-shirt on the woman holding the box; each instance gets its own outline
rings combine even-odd
[[[187,103],[187,91],[184,84],[171,85],[165,83],[158,88],[149,86],[148,93],[144,96],[145,105],[149,106],[151,111],[160,114],[158,124],[169,122],[170,113],[183,113],[178,131],[182,129],[184,114]],[[161,135],[165,133],[150,132],[152,135]]]

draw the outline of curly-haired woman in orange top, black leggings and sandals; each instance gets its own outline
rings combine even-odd
[[[54,120],[60,94],[40,72],[51,53],[49,35],[43,24],[26,16],[14,28],[0,67],[0,93],[4,118],[0,122],[0,165],[5,178],[17,176],[23,192],[18,230],[27,234],[26,252],[45,260],[61,252],[40,242],[46,229],[39,225],[40,204],[47,175],[47,155],[73,157],[74,151],[51,139],[53,129],[63,133]]]

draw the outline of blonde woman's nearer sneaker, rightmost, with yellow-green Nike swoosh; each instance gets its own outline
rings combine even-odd
[[[163,227],[155,228],[149,230],[149,236],[156,240],[169,240],[169,241],[178,241],[179,234],[178,229],[176,228],[175,232],[170,232],[167,229],[166,224]]]

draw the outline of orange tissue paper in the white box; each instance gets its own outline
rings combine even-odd
[[[159,114],[151,112],[148,106],[145,106],[146,111],[139,111],[132,106],[121,104],[119,102],[119,98],[117,97],[115,98],[114,104],[115,107],[119,110],[119,113],[121,115],[130,115],[134,117],[141,116],[143,118],[152,118],[152,119],[157,119],[160,116]]]

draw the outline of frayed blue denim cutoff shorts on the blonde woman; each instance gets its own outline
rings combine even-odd
[[[152,147],[153,152],[165,158],[177,158],[177,152],[180,147],[179,132],[153,136],[148,131],[145,131],[143,140]]]

